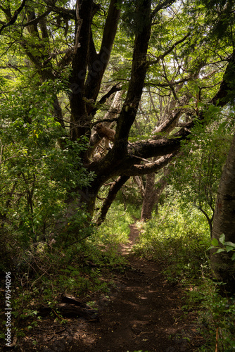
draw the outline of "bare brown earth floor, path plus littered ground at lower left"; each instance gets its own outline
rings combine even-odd
[[[184,291],[167,282],[158,263],[134,256],[139,232],[131,225],[124,272],[115,272],[115,288],[96,296],[99,320],[68,319],[66,325],[43,318],[17,342],[17,351],[44,352],[179,352],[203,344],[196,316],[182,310]]]

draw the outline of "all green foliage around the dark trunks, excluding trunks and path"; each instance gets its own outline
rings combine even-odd
[[[1,23],[8,23],[20,3],[20,0],[3,1]],[[97,12],[94,8],[92,27],[96,31],[93,39],[97,52],[109,3],[103,0]],[[124,82],[122,89],[127,89],[134,34],[139,34],[148,20],[141,11],[142,0],[118,1],[118,4],[122,25],[118,28],[99,99],[113,81]],[[159,1],[153,1],[152,10],[158,5]],[[56,6],[71,8],[66,0],[58,0]],[[141,256],[160,260],[172,282],[186,285],[193,279],[198,284],[208,274],[206,249],[210,241],[198,209],[211,225],[228,136],[234,127],[233,111],[228,113],[208,105],[220,87],[224,63],[234,49],[234,8],[232,1],[203,0],[173,1],[164,10],[153,18],[148,60],[157,64],[148,67],[129,142],[151,137],[155,125],[167,118],[178,103],[180,106],[184,96],[191,96],[191,100],[184,106],[185,115],[180,122],[189,117],[187,114],[206,110],[205,120],[212,120],[213,125],[206,133],[200,124],[194,130],[193,143],[184,147],[184,156],[172,172],[174,188],[171,193],[168,188],[167,201],[160,207],[158,217],[141,227],[135,250]],[[0,269],[9,270],[11,266],[14,270],[15,282],[18,280],[20,287],[15,292],[18,296],[14,303],[15,319],[29,320],[29,329],[34,325],[36,298],[55,308],[61,291],[89,299],[94,291],[108,292],[110,270],[124,262],[117,256],[116,248],[120,241],[127,241],[129,225],[134,217],[139,218],[137,206],[141,203],[133,184],[128,183],[97,232],[90,225],[86,209],[79,206],[77,189],[88,187],[93,175],[84,169],[81,159],[87,139],[71,142],[68,137],[70,120],[66,117],[70,111],[65,93],[69,82],[65,82],[65,77],[70,74],[69,60],[64,62],[65,66],[61,65],[61,59],[74,45],[75,23],[72,15],[68,19],[66,11],[62,16],[52,6],[44,18],[48,36],[43,23],[22,27],[29,13],[34,12],[38,18],[45,11],[44,2],[28,0],[26,13],[20,13],[12,26],[1,32],[0,49]],[[174,46],[188,32],[186,41]],[[234,103],[233,68],[224,79],[229,82],[229,98]],[[65,128],[53,117],[56,96],[63,107]],[[103,118],[107,106],[99,108],[98,118]],[[175,189],[180,192],[180,201]],[[75,201],[71,211],[66,203],[68,197]],[[218,251],[234,251],[231,242],[223,238],[220,242],[224,248]],[[212,244],[219,245],[216,241]],[[204,299],[205,310],[210,312],[213,341],[217,327],[227,331],[223,334],[228,339],[228,332],[233,333],[229,319],[234,308],[231,305],[226,310],[226,302],[217,292],[210,296],[209,291],[205,288],[205,296],[210,297],[206,301],[194,284],[191,301]],[[231,346],[228,342],[223,348]]]

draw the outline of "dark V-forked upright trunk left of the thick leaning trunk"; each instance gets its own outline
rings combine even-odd
[[[111,0],[103,39],[99,54],[96,53],[92,37],[91,24],[94,15],[94,1],[83,0],[79,11],[82,26],[80,28],[80,46],[72,59],[70,75],[71,126],[70,134],[73,141],[91,134],[93,104],[100,91],[101,81],[110,58],[113,41],[118,29],[120,10],[116,7],[117,0]]]

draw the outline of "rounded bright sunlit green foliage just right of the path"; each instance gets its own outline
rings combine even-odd
[[[142,227],[143,225],[141,225]],[[159,260],[170,281],[184,282],[208,271],[207,249],[210,235],[203,215],[179,199],[169,198],[159,206],[158,216],[146,222],[141,230],[136,253]]]

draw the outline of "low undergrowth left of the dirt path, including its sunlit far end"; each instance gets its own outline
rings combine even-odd
[[[113,212],[123,221],[118,222],[117,218],[112,222]],[[127,241],[129,223],[133,222],[122,206],[115,206],[113,212],[101,229],[93,227],[92,236],[83,241],[70,246],[59,239],[50,244],[41,241],[20,251],[11,266],[11,316],[16,336],[25,336],[37,325],[41,319],[39,307],[45,304],[58,322],[66,322],[57,308],[63,293],[91,306],[96,294],[108,296],[115,286],[116,270],[122,270],[125,264],[116,247],[119,241]],[[108,231],[109,227],[113,232]],[[1,298],[4,302],[4,296]],[[1,320],[0,324],[5,326],[6,321]],[[0,339],[5,339],[4,333]]]

